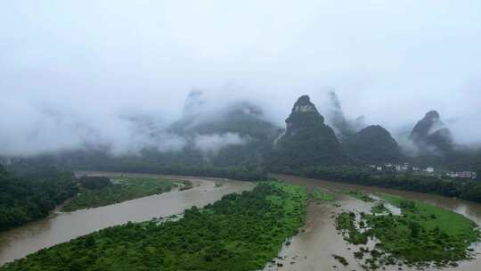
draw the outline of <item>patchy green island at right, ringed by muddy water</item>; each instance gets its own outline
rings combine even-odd
[[[364,269],[395,264],[456,267],[458,261],[472,258],[470,245],[480,240],[480,234],[469,218],[420,201],[379,196],[385,202],[373,206],[371,213],[344,211],[336,218],[336,228],[347,242],[366,245],[370,238],[376,241],[371,250],[355,251]],[[394,215],[384,204],[401,209],[401,215]]]

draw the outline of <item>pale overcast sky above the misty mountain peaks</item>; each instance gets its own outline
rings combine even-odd
[[[478,142],[481,2],[0,4],[0,152],[69,147],[89,129],[123,142],[119,115],[170,121],[192,88],[261,100],[279,123],[299,94],[321,106],[332,88],[348,117],[395,130],[437,109]]]

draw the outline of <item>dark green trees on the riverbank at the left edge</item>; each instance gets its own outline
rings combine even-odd
[[[0,231],[48,216],[77,193],[71,172],[55,168],[16,168],[0,175]]]

